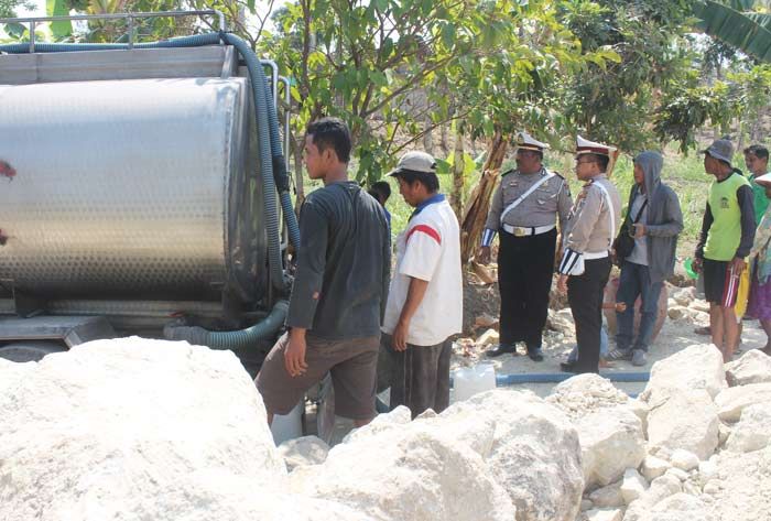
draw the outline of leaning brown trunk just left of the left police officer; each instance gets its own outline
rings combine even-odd
[[[498,182],[498,174],[503,164],[509,146],[508,138],[496,132],[489,146],[489,153],[479,183],[474,187],[466,204],[466,213],[460,224],[460,258],[464,264],[474,257],[479,245],[487,213],[490,209],[490,197]]]

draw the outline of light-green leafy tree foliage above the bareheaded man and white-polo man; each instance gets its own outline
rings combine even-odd
[[[281,11],[280,30],[261,47],[296,80],[295,132],[321,116],[341,117],[354,134],[358,178],[373,180],[404,148],[453,120],[474,137],[555,127],[550,86],[585,59],[617,56],[582,56],[553,6],[300,0]]]

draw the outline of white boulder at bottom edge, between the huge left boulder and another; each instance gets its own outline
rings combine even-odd
[[[341,443],[321,465],[290,474],[294,493],[343,503],[379,521],[511,521],[515,509],[481,456],[421,422]]]

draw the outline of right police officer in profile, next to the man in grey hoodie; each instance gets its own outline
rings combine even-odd
[[[567,291],[576,324],[578,359],[561,363],[566,372],[598,372],[602,292],[610,275],[610,247],[621,217],[621,199],[607,175],[615,148],[587,141],[576,148],[576,175],[585,182],[563,231],[557,289]]]

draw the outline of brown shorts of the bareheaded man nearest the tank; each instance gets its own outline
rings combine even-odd
[[[265,409],[289,414],[305,392],[329,372],[335,388],[335,413],[351,420],[374,417],[374,386],[380,338],[323,340],[307,337],[304,375],[292,377],[284,366],[289,335],[275,343],[254,382]]]

